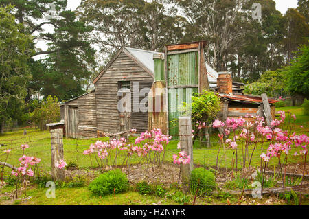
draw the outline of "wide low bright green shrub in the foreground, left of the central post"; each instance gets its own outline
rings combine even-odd
[[[118,194],[128,189],[128,178],[121,170],[112,170],[95,178],[90,183],[89,189],[99,196]]]

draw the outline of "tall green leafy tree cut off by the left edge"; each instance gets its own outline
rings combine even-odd
[[[33,54],[32,37],[16,23],[14,8],[0,7],[0,124],[5,119],[19,119],[31,79],[27,61]]]

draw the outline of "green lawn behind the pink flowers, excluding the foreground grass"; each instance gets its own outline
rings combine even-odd
[[[300,131],[306,133],[306,130],[309,130],[309,116],[302,115],[302,108],[301,107],[284,107],[284,108],[277,108],[277,111],[289,111],[292,114],[297,116],[296,125],[292,127],[288,127],[288,129]],[[287,116],[288,119],[288,116]],[[286,120],[287,120],[286,119]],[[304,126],[301,128],[299,126]],[[283,130],[286,126],[282,127]],[[98,138],[98,139],[63,139],[64,144],[64,154],[65,154],[65,161],[67,163],[73,162],[77,163],[79,168],[87,169],[91,168],[91,161],[89,156],[85,156],[82,152],[89,148],[91,143],[95,141],[108,141],[108,138]],[[133,141],[134,139],[130,139]],[[211,148],[206,148],[205,144],[201,141],[196,141],[194,144],[194,163],[198,165],[207,165],[207,166],[216,166],[217,162],[217,154],[219,145],[217,133],[213,133],[211,135]],[[177,149],[177,143],[179,141],[171,141],[168,145],[165,160],[168,162],[172,162],[172,155],[179,152]],[[23,135],[23,130],[19,130],[16,132],[8,132],[5,135],[0,136],[0,161],[4,162],[6,154],[2,153],[3,150],[8,148],[13,149],[8,157],[8,163],[12,165],[19,164],[19,157],[22,156],[23,151],[21,150],[20,146],[22,143],[28,143],[30,148],[25,149],[25,154],[28,156],[35,156],[41,158],[41,163],[39,168],[43,171],[50,171],[51,170],[51,140],[49,131],[41,132],[40,130],[36,130],[34,128],[27,129],[27,135]],[[240,147],[239,147],[240,148]],[[268,148],[268,143],[264,143],[263,145],[263,152],[266,151]],[[294,154],[295,149],[290,151],[290,154]],[[218,163],[220,163],[221,167],[227,166],[227,168],[231,168],[231,161],[233,159],[233,152],[235,150],[227,150],[226,151],[226,160],[222,159],[220,163],[220,158],[225,154],[225,151],[221,148],[220,153],[218,155]],[[253,151],[253,145],[249,146],[249,157],[251,157],[251,152]],[[260,165],[260,154],[261,154],[261,143],[258,143],[256,147],[253,157],[252,157],[252,165],[259,166]],[[238,151],[238,154],[242,153],[242,151]],[[247,157],[248,157],[247,154]],[[117,158],[117,165],[122,165],[122,161],[124,161],[125,154],[120,154]],[[235,158],[235,157],[234,157]],[[284,157],[282,156],[282,159]],[[139,163],[140,158],[132,157],[130,160],[131,164]],[[288,161],[290,163],[298,163],[301,162],[301,157],[289,156]],[[95,165],[95,160],[92,158],[93,165]],[[277,160],[271,159],[269,165],[277,165]],[[240,163],[238,164],[238,168],[240,168]]]

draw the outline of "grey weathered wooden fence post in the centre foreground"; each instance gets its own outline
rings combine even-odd
[[[179,139],[181,151],[190,155],[190,163],[181,165],[181,176],[183,182],[183,192],[190,192],[190,175],[193,170],[193,143],[192,143],[192,124],[191,117],[179,118]]]

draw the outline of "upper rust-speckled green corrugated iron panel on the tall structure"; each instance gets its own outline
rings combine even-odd
[[[168,86],[198,84],[198,53],[168,56]]]

